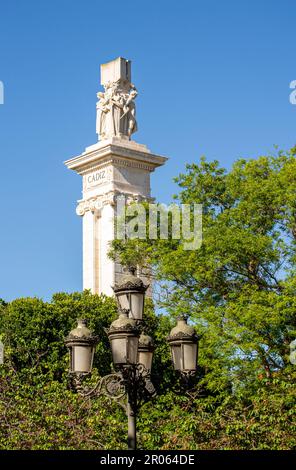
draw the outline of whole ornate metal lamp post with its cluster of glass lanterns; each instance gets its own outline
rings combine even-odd
[[[136,449],[136,419],[139,407],[155,395],[151,382],[154,345],[152,338],[142,331],[145,292],[148,286],[135,276],[135,270],[114,287],[119,316],[106,330],[111,345],[114,372],[90,388],[83,384],[92,370],[95,345],[99,338],[87,328],[85,320],[65,339],[70,351],[72,385],[84,397],[105,395],[123,405],[128,417],[128,448]],[[185,317],[167,338],[171,347],[175,370],[188,377],[196,372],[198,337]],[[126,398],[125,404],[122,399]]]

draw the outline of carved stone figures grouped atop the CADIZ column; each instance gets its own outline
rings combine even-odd
[[[131,138],[137,130],[134,99],[138,92],[127,81],[118,80],[104,85],[104,92],[97,93],[97,134],[99,140],[112,136]]]

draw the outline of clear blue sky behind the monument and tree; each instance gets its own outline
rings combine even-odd
[[[0,297],[81,289],[81,181],[63,161],[96,141],[99,65],[133,61],[135,140],[173,176],[296,142],[294,0],[2,0]]]

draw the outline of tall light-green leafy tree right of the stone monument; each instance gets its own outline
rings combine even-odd
[[[175,200],[203,205],[198,250],[172,238],[113,243],[111,256],[152,267],[160,307],[196,324],[203,391],[249,395],[263,378],[294,374],[295,153],[241,159],[228,172],[205,158],[187,165]]]

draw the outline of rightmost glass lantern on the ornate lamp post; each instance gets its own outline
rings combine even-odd
[[[171,347],[173,365],[182,375],[193,375],[197,368],[198,336],[187,324],[187,318],[181,316],[167,340]]]

